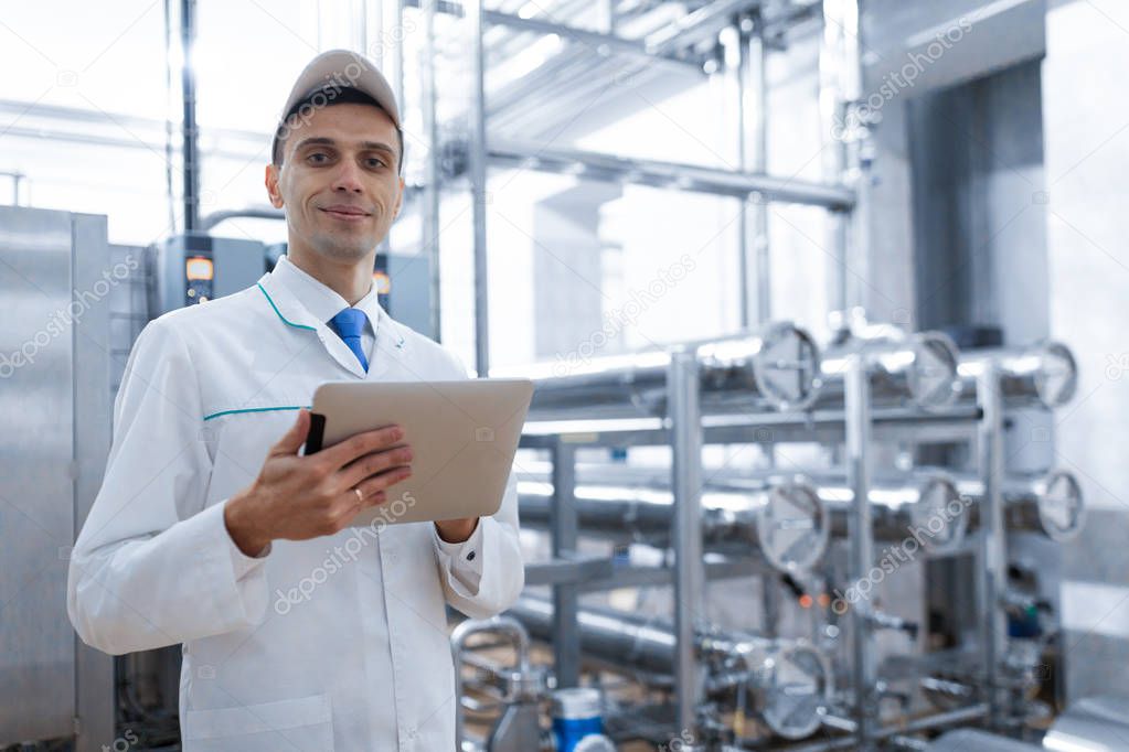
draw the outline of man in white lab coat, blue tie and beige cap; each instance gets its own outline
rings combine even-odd
[[[256,285],[141,333],[68,609],[107,653],[183,643],[187,752],[447,752],[445,604],[481,618],[518,596],[513,478],[492,517],[353,529],[373,505],[394,522],[413,501],[396,484],[428,448],[387,428],[301,454],[301,408],[325,381],[466,373],[377,304],[376,246],[404,186],[384,77],[325,53],[283,112],[266,191],[288,255]]]

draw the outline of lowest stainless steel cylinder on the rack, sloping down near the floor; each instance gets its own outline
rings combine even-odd
[[[525,595],[508,613],[534,638],[552,639],[552,603],[546,599]],[[586,655],[624,670],[669,675],[675,645],[668,620],[586,608],[578,627]],[[803,738],[820,728],[833,682],[830,663],[817,648],[802,640],[698,629],[695,649],[708,666],[711,692],[744,684],[777,735]]]

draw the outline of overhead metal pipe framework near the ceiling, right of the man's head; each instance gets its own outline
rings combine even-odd
[[[857,2],[858,0],[837,1],[835,12],[842,10],[846,16],[852,16],[857,19]],[[471,46],[472,97],[467,113],[470,127],[466,156],[473,219],[475,369],[480,374],[487,374],[490,371],[487,251],[487,175],[490,167],[520,166],[524,169],[583,175],[585,178],[592,179],[694,191],[739,198],[744,206],[739,233],[742,274],[738,281],[742,300],[741,321],[744,327],[764,324],[771,310],[768,274],[768,205],[779,202],[823,206],[834,215],[842,218],[841,223],[849,222],[849,218],[852,216],[852,210],[858,204],[858,191],[855,187],[843,185],[842,180],[844,175],[856,174],[858,170],[850,169],[855,162],[851,162],[848,156],[843,157],[838,167],[829,169],[824,183],[796,178],[786,179],[767,172],[765,51],[771,45],[771,41],[778,38],[789,27],[816,15],[821,7],[820,2],[797,2],[794,7],[789,7],[787,14],[779,18],[771,18],[767,17],[767,10],[772,3],[765,0],[714,0],[642,38],[627,38],[616,34],[615,29],[619,24],[614,0],[605,3],[606,32],[594,32],[554,20],[525,18],[522,15],[487,10],[482,0],[465,0],[462,3],[446,0],[399,0],[397,15],[402,16],[403,9],[409,6],[415,6],[423,12],[425,48],[428,51],[436,48],[434,35],[437,12],[460,16],[467,25]],[[842,7],[846,6],[855,8],[854,15],[849,9],[843,10]],[[831,20],[839,23],[838,17]],[[738,62],[735,70],[720,72],[730,73],[737,81],[739,107],[735,131],[741,169],[724,170],[693,165],[624,159],[575,149],[499,141],[496,135],[490,133],[496,113],[488,108],[485,96],[488,71],[484,34],[492,27],[506,27],[514,29],[515,33],[554,34],[588,50],[587,57],[590,57],[592,62],[581,68],[584,74],[579,78],[574,73],[571,78],[566,76],[561,81],[553,80],[554,76],[562,73],[572,62],[571,56],[563,53],[560,55],[561,60],[550,61],[543,67],[544,70],[535,71],[525,77],[526,80],[515,87],[516,91],[520,94],[509,92],[504,97],[509,103],[522,101],[528,97],[536,98],[537,103],[543,104],[545,109],[553,114],[559,114],[562,109],[567,112],[568,108],[562,104],[564,99],[575,101],[576,97],[583,96],[583,92],[587,90],[585,86],[590,88],[592,79],[595,78],[592,73],[601,67],[605,67],[606,61],[613,55],[627,55],[632,59],[632,65],[636,67],[629,68],[629,71],[646,70],[648,67],[675,65],[682,69],[694,68],[703,71],[704,74],[707,68],[710,70],[717,68],[716,59],[712,54],[698,52],[698,46],[710,38],[716,39],[723,28],[734,28],[737,32],[739,44]],[[855,28],[857,30],[857,24]],[[854,57],[843,57],[848,54],[852,54]],[[859,65],[857,45],[838,48],[829,44],[825,45],[822,55],[828,60],[825,63],[821,63],[821,68],[834,69],[847,65],[857,69]],[[402,67],[397,67],[397,70],[402,71]],[[828,79],[828,81],[832,85],[828,92],[840,98],[837,100],[839,103],[835,105],[837,112],[843,112],[852,106],[850,101],[841,99],[841,97],[847,96],[850,91],[854,91],[854,96],[857,97],[857,87],[848,91],[835,85],[838,79]],[[429,139],[427,168],[429,185],[425,192],[425,204],[421,212],[423,222],[421,238],[429,244],[429,253],[436,256],[440,229],[438,180],[441,174],[443,144],[439,143],[435,122],[438,91],[434,62],[426,63],[422,83],[421,104],[425,113],[425,130]],[[400,81],[400,89],[403,90],[402,81]],[[566,97],[566,94],[571,98]],[[822,98],[824,98],[823,95],[821,95]],[[825,129],[825,132],[831,133],[832,131]],[[830,256],[846,259],[848,250],[850,250],[849,239],[846,231],[833,233],[833,250]],[[856,250],[852,256],[858,257],[860,254]],[[432,269],[436,269],[435,274],[438,274],[438,267],[437,263],[432,264]],[[844,290],[846,267],[837,265],[832,268],[832,276],[837,280],[833,283],[834,289]],[[434,287],[438,287],[437,277],[434,280]],[[754,289],[756,292],[751,295],[750,290]],[[839,298],[847,300],[846,293]],[[435,299],[438,300],[438,295]],[[852,300],[852,302],[861,301]]]

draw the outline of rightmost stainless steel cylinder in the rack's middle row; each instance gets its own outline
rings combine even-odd
[[[957,479],[961,496],[971,505],[970,525],[980,527],[980,499],[983,481]],[[1078,536],[1086,520],[1082,485],[1073,472],[1054,470],[1047,475],[1012,476],[1003,481],[1004,521],[1008,530],[1040,532],[1053,541],[1066,542]]]

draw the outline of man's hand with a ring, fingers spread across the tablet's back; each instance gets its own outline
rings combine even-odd
[[[271,448],[255,481],[227,502],[224,522],[247,556],[280,538],[331,536],[362,508],[384,503],[386,489],[411,475],[412,450],[401,443],[399,426],[360,433],[299,457],[308,433],[309,412],[301,409]]]

